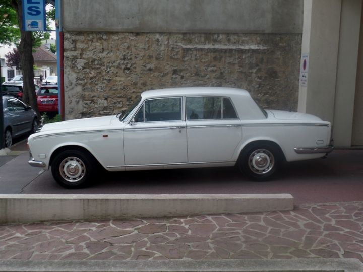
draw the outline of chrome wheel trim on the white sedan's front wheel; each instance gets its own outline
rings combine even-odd
[[[77,157],[67,157],[59,165],[59,173],[68,182],[78,182],[86,174],[84,162]]]

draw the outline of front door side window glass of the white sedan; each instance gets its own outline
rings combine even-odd
[[[181,97],[146,100],[135,115],[135,122],[181,121],[182,119]]]

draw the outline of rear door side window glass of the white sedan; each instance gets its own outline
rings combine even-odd
[[[237,119],[229,98],[212,96],[186,97],[187,120]]]

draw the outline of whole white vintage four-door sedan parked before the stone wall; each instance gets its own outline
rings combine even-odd
[[[124,114],[46,124],[28,138],[29,164],[64,187],[108,171],[238,165],[255,180],[283,161],[324,157],[331,125],[304,113],[263,110],[241,89],[146,91]]]

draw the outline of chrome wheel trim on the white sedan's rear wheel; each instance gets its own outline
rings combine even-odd
[[[253,173],[264,175],[274,167],[275,158],[267,149],[258,149],[251,153],[248,164]]]

